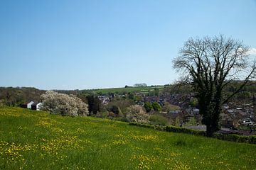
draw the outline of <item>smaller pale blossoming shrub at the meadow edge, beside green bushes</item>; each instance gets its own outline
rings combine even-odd
[[[142,106],[129,106],[127,108],[127,120],[129,122],[148,123],[149,115],[143,111]]]

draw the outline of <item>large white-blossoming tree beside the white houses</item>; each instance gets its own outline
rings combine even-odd
[[[60,115],[87,115],[88,106],[83,103],[80,98],[75,95],[58,94],[55,91],[46,91],[42,94],[43,111]]]

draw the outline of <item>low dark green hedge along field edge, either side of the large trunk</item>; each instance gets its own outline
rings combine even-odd
[[[176,126],[160,126],[160,125],[149,125],[149,124],[142,124],[142,123],[129,123],[129,125],[136,125],[144,128],[152,128],[156,130],[162,130],[166,132],[181,132],[191,135],[198,135],[198,136],[206,136],[206,132],[201,130],[191,130],[187,128],[180,128]],[[213,138],[217,138],[219,140],[227,140],[232,142],[243,142],[243,143],[250,143],[256,144],[256,135],[251,136],[242,136],[242,135],[226,135],[221,133],[215,133]]]

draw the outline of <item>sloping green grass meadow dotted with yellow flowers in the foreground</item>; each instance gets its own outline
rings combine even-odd
[[[0,108],[0,169],[256,169],[256,145]]]

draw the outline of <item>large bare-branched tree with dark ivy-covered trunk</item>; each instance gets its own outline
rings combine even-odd
[[[250,48],[241,41],[225,38],[189,39],[174,59],[174,68],[183,71],[183,79],[193,86],[198,98],[206,135],[219,128],[220,112],[226,103],[253,78],[255,62],[250,61]],[[223,89],[233,81],[242,82],[238,89],[223,95]]]

